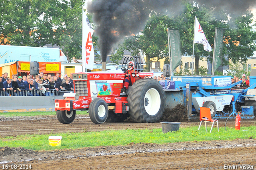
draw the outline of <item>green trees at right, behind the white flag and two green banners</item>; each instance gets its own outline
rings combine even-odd
[[[202,26],[206,38],[212,49],[214,48],[215,28],[226,28],[224,36],[226,37],[225,46],[222,55],[227,55],[228,59],[234,62],[244,62],[247,57],[252,56],[255,51],[256,34],[252,30],[252,14],[246,12],[240,17],[234,17],[220,11],[214,11],[214,8],[204,8],[203,5],[191,4],[184,1],[184,11],[179,15],[172,17],[152,13],[144,30],[141,34],[132,36],[124,41],[128,50],[138,53],[142,49],[146,53],[147,70],[149,71],[150,58],[167,58],[167,28],[180,29],[182,54],[191,55],[194,38],[194,16],[197,16]],[[230,18],[231,16],[231,18]],[[199,74],[199,59],[208,56],[212,61],[212,52],[204,51],[202,44],[195,44],[195,74]],[[222,56],[222,65],[227,65],[228,61]]]

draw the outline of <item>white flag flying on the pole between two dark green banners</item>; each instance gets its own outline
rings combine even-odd
[[[194,31],[194,43],[202,43],[204,45],[205,51],[212,51],[211,45],[208,43],[204,31],[202,27],[200,26],[197,18],[195,17],[195,31]]]

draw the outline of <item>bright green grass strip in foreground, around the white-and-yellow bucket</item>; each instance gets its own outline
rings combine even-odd
[[[205,140],[233,140],[236,138],[246,139],[255,138],[256,127],[241,127],[241,130],[228,128],[227,131],[224,127],[220,127],[220,132],[217,128],[209,133],[205,132],[205,128],[198,126],[180,128],[178,132],[162,133],[161,128],[148,129],[148,130],[105,130],[100,132],[86,132],[86,129],[81,130],[79,133],[58,133],[58,134],[45,134],[45,135],[20,135],[20,136],[6,136],[0,138],[0,147],[19,147],[22,146],[26,149],[32,150],[55,150],[55,149],[76,149],[83,147],[94,146],[116,146],[126,145],[131,142],[139,143],[172,143],[172,142],[185,142],[185,141],[205,141]],[[49,145],[49,136],[62,136],[61,146],[52,147]]]

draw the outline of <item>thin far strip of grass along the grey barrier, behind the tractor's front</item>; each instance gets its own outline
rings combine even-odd
[[[88,113],[87,113],[87,111],[76,111],[76,114],[78,114],[78,115],[86,115]],[[56,115],[56,111],[4,112],[4,113],[0,113],[0,117],[39,116],[39,115]]]

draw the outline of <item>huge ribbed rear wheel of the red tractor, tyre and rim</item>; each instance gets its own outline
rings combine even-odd
[[[130,119],[136,123],[159,121],[164,112],[162,86],[154,79],[140,79],[129,89],[127,97]]]

